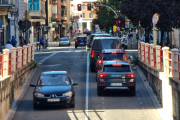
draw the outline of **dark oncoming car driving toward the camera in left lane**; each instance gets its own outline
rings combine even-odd
[[[33,91],[34,109],[44,105],[69,105],[75,107],[74,83],[66,71],[43,72]]]

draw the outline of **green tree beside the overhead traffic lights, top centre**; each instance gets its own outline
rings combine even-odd
[[[94,5],[107,5],[111,7],[116,13],[119,13],[120,10],[120,4],[121,2],[118,0],[100,0],[98,2],[94,2]],[[116,16],[113,11],[106,7],[94,7],[93,10],[94,13],[97,14],[97,19],[93,19],[93,22],[99,23],[99,26],[101,29],[106,30],[106,32],[109,31],[110,26],[113,27],[115,25]]]

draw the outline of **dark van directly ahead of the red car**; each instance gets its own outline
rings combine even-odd
[[[121,41],[118,37],[94,37],[90,48],[90,67],[95,71],[96,62],[104,49],[121,49]]]

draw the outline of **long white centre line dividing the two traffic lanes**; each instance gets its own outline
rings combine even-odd
[[[89,52],[87,53],[87,70],[86,70],[86,106],[85,106],[85,112],[88,116],[88,96],[89,96]],[[85,120],[88,118],[85,116]]]

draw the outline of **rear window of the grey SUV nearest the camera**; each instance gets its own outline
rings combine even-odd
[[[103,68],[104,72],[131,72],[129,65],[122,65],[122,66],[112,66],[112,65],[106,65]]]

